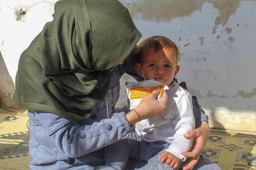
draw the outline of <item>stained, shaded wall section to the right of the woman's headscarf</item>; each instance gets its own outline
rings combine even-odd
[[[180,47],[179,81],[211,110],[256,111],[256,1],[124,1],[143,38]]]

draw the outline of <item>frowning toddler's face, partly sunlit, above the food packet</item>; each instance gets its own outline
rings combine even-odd
[[[169,85],[179,71],[177,55],[173,49],[163,48],[155,52],[150,48],[144,52],[141,64],[135,65],[135,70],[145,80],[162,79]]]

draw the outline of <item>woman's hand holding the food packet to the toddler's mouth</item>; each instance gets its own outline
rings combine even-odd
[[[134,110],[131,110],[126,114],[126,118],[130,125],[143,119],[162,115],[164,109],[167,106],[168,98],[165,90],[160,101],[156,99],[158,94],[159,90],[154,90],[151,94],[142,99],[138,106],[136,106],[136,113]]]

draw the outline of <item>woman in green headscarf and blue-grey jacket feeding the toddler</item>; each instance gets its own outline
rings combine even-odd
[[[104,147],[140,119],[166,105],[158,91],[135,111],[112,113],[122,74],[132,74],[131,52],[141,37],[117,0],[56,2],[54,19],[22,53],[15,104],[30,117],[30,169],[93,169]]]

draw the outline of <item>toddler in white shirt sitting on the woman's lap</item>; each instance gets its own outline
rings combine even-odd
[[[142,41],[136,51],[136,72],[144,80],[160,79],[168,85],[168,106],[162,116],[141,120],[135,124],[135,132],[109,145],[106,168],[125,169],[129,157],[147,161],[144,169],[178,168],[186,160],[181,152],[188,152],[192,144],[192,139],[183,135],[195,128],[191,94],[173,81],[179,71],[178,47],[167,37],[153,36]],[[126,105],[116,111],[128,109]]]

